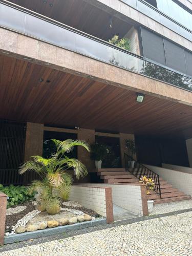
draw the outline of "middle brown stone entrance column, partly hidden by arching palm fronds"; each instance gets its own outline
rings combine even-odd
[[[78,140],[84,140],[89,145],[95,142],[95,131],[90,129],[80,129],[77,134]],[[90,153],[83,148],[82,146],[78,146],[77,148],[78,160],[80,160],[84,165],[86,165],[88,172],[95,168],[95,163],[90,159]],[[88,181],[87,179],[83,181]],[[82,182],[82,181],[81,181]]]

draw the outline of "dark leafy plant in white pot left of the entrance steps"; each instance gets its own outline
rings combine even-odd
[[[94,143],[91,145],[91,159],[95,161],[95,168],[100,169],[102,160],[107,154],[107,148],[100,143]]]

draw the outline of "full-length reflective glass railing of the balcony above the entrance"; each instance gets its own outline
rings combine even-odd
[[[0,27],[192,91],[192,77],[166,69],[101,39],[1,1]]]

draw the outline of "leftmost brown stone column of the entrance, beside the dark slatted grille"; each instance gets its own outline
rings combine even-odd
[[[42,144],[44,141],[44,124],[27,123],[25,142],[25,161],[31,156],[42,156]]]

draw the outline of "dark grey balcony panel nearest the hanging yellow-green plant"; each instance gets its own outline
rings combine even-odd
[[[163,38],[141,28],[143,56],[166,65]]]

